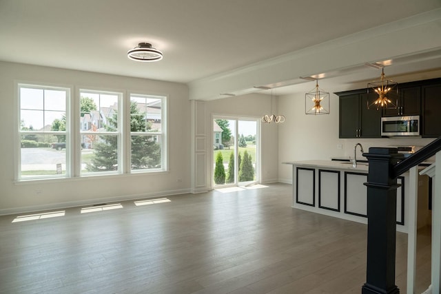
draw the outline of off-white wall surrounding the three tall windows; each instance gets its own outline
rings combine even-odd
[[[14,81],[127,90],[168,96],[170,171],[14,182]],[[75,93],[72,93],[74,95]],[[190,102],[186,85],[51,67],[0,62],[0,214],[110,200],[186,193],[190,187]],[[180,179],[180,181],[178,181]],[[40,191],[37,193],[37,191]]]

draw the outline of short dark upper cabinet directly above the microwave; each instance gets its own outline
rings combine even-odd
[[[397,108],[383,109],[383,116],[419,116],[421,115],[421,87],[400,87],[389,96]]]

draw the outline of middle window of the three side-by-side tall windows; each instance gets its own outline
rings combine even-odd
[[[121,172],[121,97],[80,90],[81,174]]]

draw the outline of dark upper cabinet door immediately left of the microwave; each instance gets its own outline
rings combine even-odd
[[[376,93],[360,94],[361,118],[360,118],[360,137],[361,138],[381,138],[381,109],[375,107],[367,109],[368,101],[373,101],[378,96]]]

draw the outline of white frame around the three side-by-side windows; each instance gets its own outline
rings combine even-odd
[[[14,132],[14,178],[15,182],[26,182],[34,180],[72,180],[89,178],[95,176],[122,176],[130,174],[158,174],[167,172],[168,158],[169,158],[169,147],[168,147],[168,128],[167,128],[167,114],[168,114],[168,96],[167,94],[158,94],[152,92],[131,92],[129,90],[108,90],[104,87],[79,87],[77,85],[63,85],[63,84],[51,84],[51,83],[41,83],[41,82],[30,82],[30,81],[14,81],[14,96],[16,97],[16,103],[14,103],[14,121],[16,130]],[[65,117],[66,117],[66,129],[61,131],[65,135],[66,143],[66,158],[65,158],[65,174],[54,174],[54,175],[43,175],[43,176],[21,176],[21,101],[20,101],[20,91],[21,87],[29,87],[34,89],[43,90],[63,90],[66,93],[65,100]],[[103,172],[81,172],[81,148],[76,146],[81,146],[81,136],[84,132],[81,132],[81,93],[82,92],[92,92],[101,94],[118,94],[118,126],[119,132],[118,142],[119,142],[119,155],[118,155],[118,171],[103,171]],[[131,136],[130,132],[130,98],[132,95],[136,96],[148,96],[152,98],[161,99],[161,132],[145,132],[141,134],[147,135],[158,135],[162,138],[161,143],[161,168],[158,169],[132,169],[131,168]],[[121,127],[120,127],[121,126]],[[41,134],[61,134],[60,131],[46,131]],[[35,134],[32,131],[32,134]],[[96,132],[96,135],[103,135],[105,132]]]

